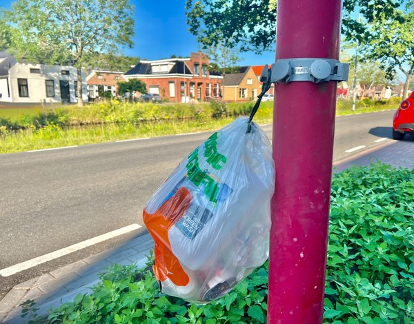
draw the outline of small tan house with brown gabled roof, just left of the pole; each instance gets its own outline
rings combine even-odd
[[[225,101],[250,101],[257,99],[262,85],[251,66],[242,66],[236,73],[229,73],[223,79]]]

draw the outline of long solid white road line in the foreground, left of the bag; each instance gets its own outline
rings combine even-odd
[[[134,230],[137,230],[141,227],[141,225],[138,224],[132,224],[128,225],[126,227],[119,228],[118,230],[108,232],[106,234],[102,234],[99,236],[95,236],[92,239],[88,239],[83,242],[79,242],[73,245],[70,245],[68,247],[63,247],[61,250],[57,250],[55,252],[50,252],[48,254],[44,254],[42,256],[37,256],[37,258],[24,261],[22,263],[18,263],[17,265],[12,265],[10,267],[6,267],[4,269],[0,270],[0,276],[11,276],[12,274],[17,274],[17,272],[21,272],[23,270],[28,270],[31,267],[35,267],[36,265],[39,265],[41,263],[48,262],[50,260],[54,260],[57,258],[60,258],[61,256],[64,256],[66,254],[70,254],[72,252],[76,252],[78,250],[82,250],[85,247],[89,247],[91,245],[95,245],[97,243],[101,243],[103,241],[106,241],[108,239],[112,239],[116,236],[126,234],[128,232],[132,232]]]

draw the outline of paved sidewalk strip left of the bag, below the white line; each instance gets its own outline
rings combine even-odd
[[[30,279],[13,287],[0,301],[0,323],[28,323],[30,318],[21,318],[19,304],[33,299],[37,314],[46,314],[50,308],[61,303],[73,301],[77,294],[88,294],[99,282],[101,274],[108,265],[145,265],[149,250],[154,246],[150,234],[144,234],[111,250],[89,256],[65,267]]]

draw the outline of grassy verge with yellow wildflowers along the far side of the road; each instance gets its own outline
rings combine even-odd
[[[399,102],[399,101],[398,101]],[[248,115],[254,102],[224,103],[94,103],[84,108],[0,109],[0,153],[21,152],[69,145],[82,145],[216,130],[241,115]],[[396,109],[397,99],[360,101],[355,112]],[[352,102],[340,99],[337,114],[351,114]],[[23,115],[18,114],[21,111]],[[255,121],[270,123],[273,101],[263,102]]]

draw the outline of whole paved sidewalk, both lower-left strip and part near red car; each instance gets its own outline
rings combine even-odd
[[[377,160],[394,167],[414,169],[414,136],[409,136],[404,141],[393,141],[379,150],[370,150],[355,156],[354,159],[334,165],[337,166],[336,171],[340,171],[352,165],[370,165]],[[137,263],[138,266],[143,266],[153,245],[150,234],[144,234],[115,249],[90,256],[14,286],[0,301],[0,323],[27,323],[29,319],[20,316],[19,304],[28,299],[36,302],[38,314],[46,314],[51,307],[59,307],[61,303],[73,301],[77,294],[90,293],[88,288],[98,283],[99,274],[112,263]]]

